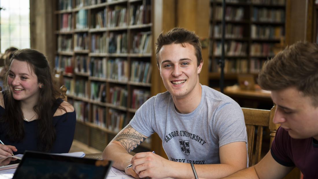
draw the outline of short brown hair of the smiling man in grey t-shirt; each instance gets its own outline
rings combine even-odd
[[[199,36],[184,28],[173,28],[165,34],[161,32],[156,42],[157,65],[159,66],[159,51],[163,45],[182,44],[182,46],[185,47],[185,43],[189,43],[194,46],[197,57],[197,66],[199,66],[200,63],[203,62]]]

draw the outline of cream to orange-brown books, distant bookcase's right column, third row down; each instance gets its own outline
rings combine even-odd
[[[264,38],[264,39],[280,39],[284,37],[284,27],[282,26],[251,26],[251,38]]]

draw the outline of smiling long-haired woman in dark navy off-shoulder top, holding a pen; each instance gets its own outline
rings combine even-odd
[[[25,150],[67,153],[76,114],[57,98],[45,56],[32,49],[15,51],[6,77],[6,90],[0,93],[0,157]]]

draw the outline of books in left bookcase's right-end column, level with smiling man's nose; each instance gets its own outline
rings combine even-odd
[[[150,83],[152,66],[150,62],[131,62],[130,81]]]

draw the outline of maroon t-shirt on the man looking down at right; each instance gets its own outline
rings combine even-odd
[[[298,167],[304,178],[318,178],[318,141],[313,137],[293,139],[280,127],[272,144],[271,154],[286,167]]]

